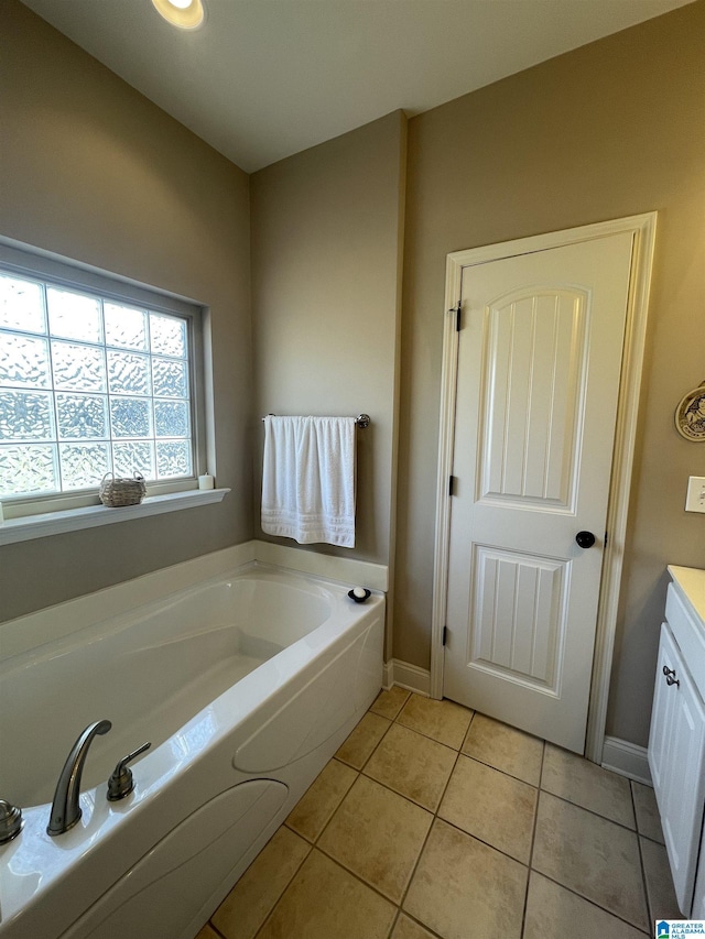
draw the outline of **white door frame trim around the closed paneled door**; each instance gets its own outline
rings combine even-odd
[[[617,607],[627,529],[629,488],[634,456],[639,390],[649,307],[649,286],[653,262],[657,214],[598,222],[564,231],[554,231],[516,241],[505,241],[447,255],[445,279],[445,325],[443,332],[443,372],[441,379],[441,430],[436,482],[436,534],[433,571],[433,611],[431,620],[431,697],[443,697],[443,627],[448,596],[448,545],[451,534],[451,496],[448,479],[453,467],[455,398],[458,368],[458,332],[456,309],[460,302],[463,267],[484,264],[565,244],[590,241],[610,234],[631,232],[633,237],[631,276],[625,347],[622,351],[615,452],[607,509],[609,538],[603,559],[603,578],[597,611],[593,679],[587,713],[585,755],[594,763],[603,762],[607,699],[617,627]]]

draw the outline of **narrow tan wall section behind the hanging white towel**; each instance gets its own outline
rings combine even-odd
[[[252,176],[259,520],[263,414],[370,415],[354,549],[390,564],[405,118],[398,111]],[[274,541],[274,539],[273,539]],[[292,544],[290,539],[276,539]]]

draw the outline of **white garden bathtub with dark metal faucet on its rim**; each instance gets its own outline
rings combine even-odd
[[[0,664],[0,798],[24,816],[0,847],[0,939],[195,936],[381,687],[384,597],[350,587],[251,564]],[[100,719],[83,817],[50,838],[64,761]]]

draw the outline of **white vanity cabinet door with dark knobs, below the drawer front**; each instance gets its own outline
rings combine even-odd
[[[705,805],[705,707],[666,623],[661,626],[649,764],[675,895],[681,913],[690,916]]]

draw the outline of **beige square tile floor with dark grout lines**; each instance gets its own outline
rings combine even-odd
[[[681,918],[653,791],[392,688],[198,939],[643,939]]]

